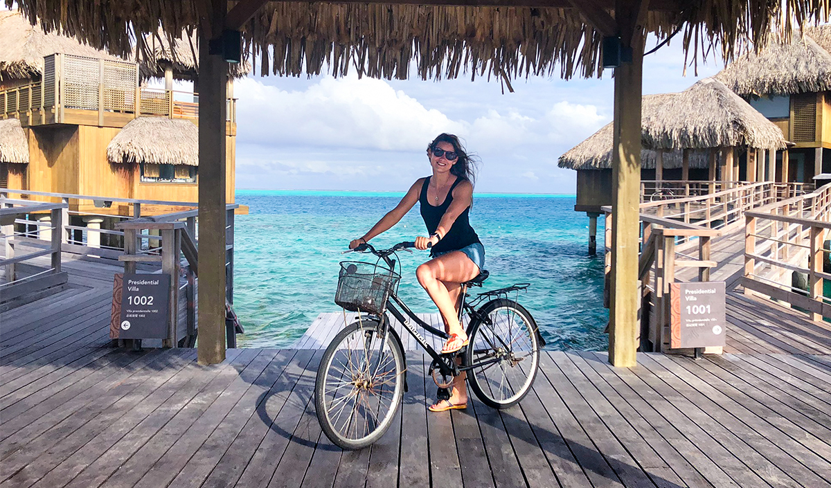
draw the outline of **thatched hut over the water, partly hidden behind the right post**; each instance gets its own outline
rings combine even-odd
[[[772,181],[770,173],[757,175],[757,151],[775,154],[787,144],[773,122],[711,78],[681,93],[644,96],[641,132],[647,200],[656,198],[659,185],[664,192],[689,194],[695,182]],[[612,134],[610,123],[558,160],[560,168],[578,173],[574,210],[592,219],[612,203]]]

